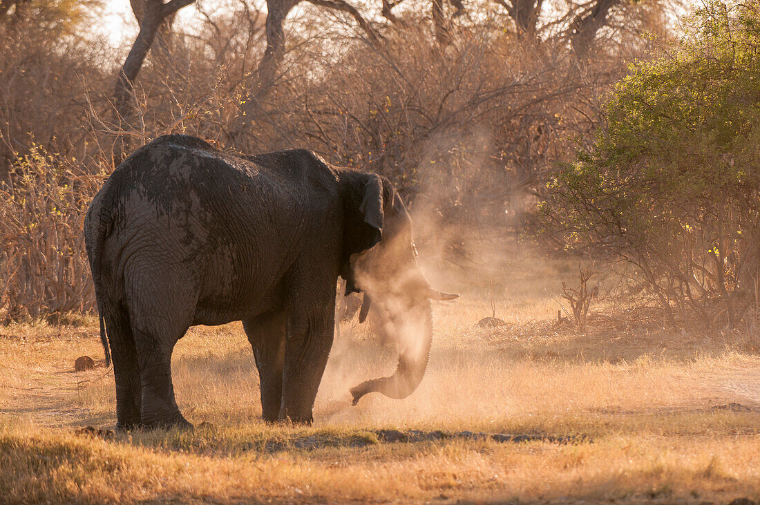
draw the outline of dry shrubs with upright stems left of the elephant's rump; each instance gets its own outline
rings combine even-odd
[[[0,183],[0,320],[93,308],[84,213],[100,178],[33,146]]]

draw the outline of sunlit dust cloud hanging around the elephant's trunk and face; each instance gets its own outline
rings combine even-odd
[[[494,346],[483,346],[488,332],[477,327],[483,317],[509,319],[507,306],[515,301],[509,287],[515,270],[525,269],[528,263],[533,270],[545,270],[543,260],[525,254],[515,240],[517,221],[508,211],[506,197],[501,207],[476,207],[479,191],[486,191],[483,167],[488,163],[489,140],[484,131],[432,140],[417,171],[422,189],[411,205],[407,201],[424,276],[434,289],[461,294],[454,301],[432,301],[432,349],[420,386],[406,399],[372,393],[351,406],[350,387],[393,374],[399,355],[426,352],[420,321],[397,316],[389,324],[389,307],[373,298],[371,324],[359,324],[357,317],[340,324],[315,406],[315,418],[321,422],[441,427],[465,421],[473,429],[488,429],[507,413],[522,412],[530,405],[524,396],[513,393],[510,376],[515,362]],[[494,200],[493,195],[488,199]],[[408,272],[401,277],[414,275]],[[369,276],[363,280],[371,281]],[[542,301],[531,317],[543,316],[541,310],[545,314],[556,311],[545,310],[543,284],[523,284],[519,291],[517,295],[529,303],[530,297]],[[339,292],[338,298],[342,295]],[[391,312],[404,314],[400,309]],[[382,338],[388,329],[391,337]]]

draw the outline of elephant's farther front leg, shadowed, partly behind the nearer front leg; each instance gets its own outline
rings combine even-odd
[[[253,349],[261,390],[261,417],[274,422],[280,415],[287,317],[284,310],[244,320],[245,334]]]

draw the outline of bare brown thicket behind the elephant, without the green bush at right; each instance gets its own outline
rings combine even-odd
[[[445,43],[426,4],[372,21],[376,39],[349,14],[312,6],[289,19],[280,67],[261,90],[252,75],[266,14],[242,0],[200,2],[204,21],[148,55],[125,118],[112,99],[124,53],[88,30],[98,3],[0,9],[0,320],[92,308],[84,210],[117,146],[161,134],[245,153],[307,147],[387,175],[438,235],[453,225],[519,232],[542,181],[567,159],[566,139],[594,131],[623,62],[651,49],[641,34],[667,39],[654,1],[606,4],[601,21],[589,18],[601,24],[583,58],[570,26],[581,4],[534,19],[530,34],[505,15],[509,2],[477,4],[446,22]]]

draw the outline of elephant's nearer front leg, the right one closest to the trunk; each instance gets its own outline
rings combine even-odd
[[[280,421],[306,424],[314,421],[314,400],[333,342],[331,299],[334,301],[334,292],[319,307],[291,311],[288,316]]]

